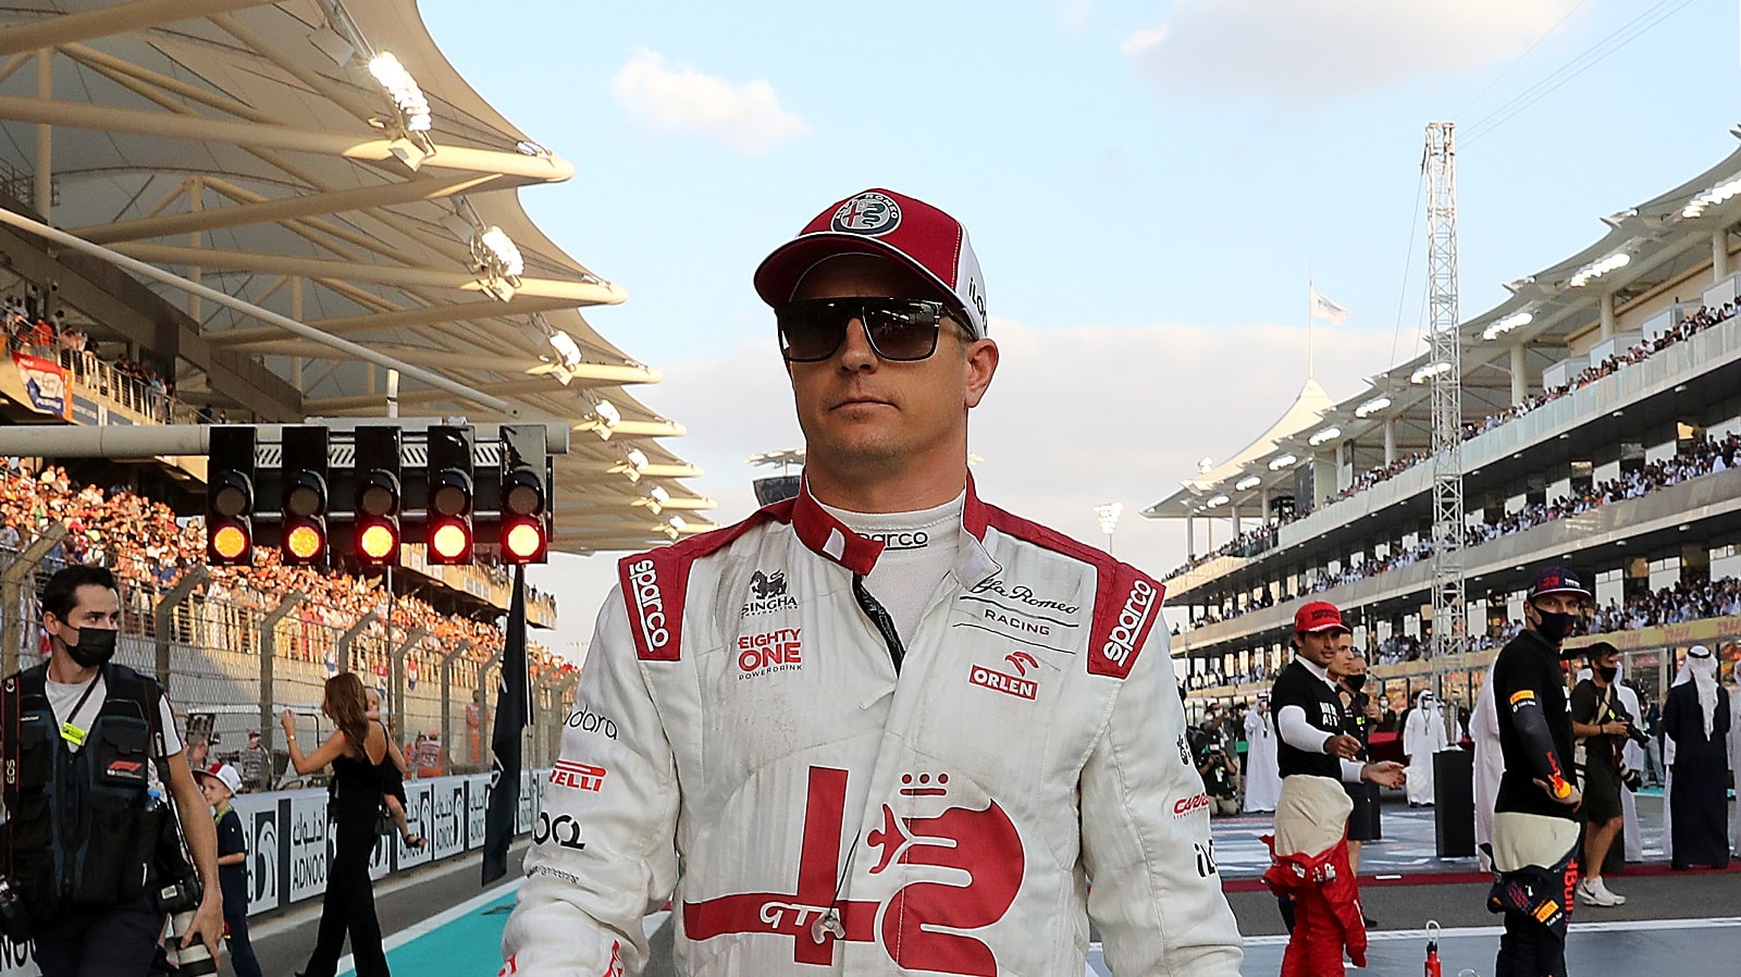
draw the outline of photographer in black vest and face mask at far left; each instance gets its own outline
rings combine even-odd
[[[42,590],[49,660],[0,686],[0,923],[37,940],[44,977],[145,974],[174,911],[185,963],[211,965],[223,935],[218,836],[188,771],[169,700],[111,664],[115,576],[68,566]],[[193,853],[181,855],[165,803]],[[207,974],[211,970],[205,970]]]

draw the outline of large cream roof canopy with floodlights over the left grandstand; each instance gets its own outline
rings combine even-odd
[[[19,0],[0,10],[0,188],[54,226],[573,427],[557,549],[709,528],[679,482],[700,470],[655,441],[682,425],[623,390],[658,371],[581,317],[625,291],[521,209],[519,188],[575,167],[467,85],[413,0]],[[198,369],[244,357],[305,416],[387,414],[380,366],[150,287],[197,322],[172,350],[183,399],[296,420]],[[409,376],[399,406],[508,420]]]

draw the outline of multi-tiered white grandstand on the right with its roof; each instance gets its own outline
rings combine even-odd
[[[1652,697],[1677,650],[1741,637],[1738,192],[1741,152],[1603,218],[1600,240],[1461,324],[1469,648],[1443,664],[1447,698],[1475,702],[1548,561],[1595,582],[1590,630]],[[1396,709],[1431,683],[1435,374],[1424,354],[1341,402],[1307,381],[1250,446],[1144,510],[1186,522],[1168,603],[1193,697],[1266,686],[1306,596],[1344,610]]]

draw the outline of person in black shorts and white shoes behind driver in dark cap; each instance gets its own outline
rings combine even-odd
[[[1602,864],[1623,827],[1621,784],[1624,765],[1621,747],[1631,735],[1631,718],[1614,695],[1619,676],[1619,650],[1607,641],[1588,648],[1591,676],[1572,688],[1572,765],[1577,768],[1577,787],[1584,796],[1579,813],[1584,819],[1584,879],[1577,897],[1586,906],[1624,906],[1626,897],[1616,895],[1602,881]],[[1633,777],[1638,777],[1633,773]],[[1637,789],[1637,787],[1635,787]]]

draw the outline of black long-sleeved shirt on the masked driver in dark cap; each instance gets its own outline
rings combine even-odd
[[[1541,744],[1529,744],[1513,721],[1513,702],[1536,697],[1541,704],[1548,731],[1553,735],[1553,763],[1560,775],[1576,780],[1572,771],[1572,714],[1565,707],[1565,672],[1560,669],[1560,651],[1534,630],[1513,637],[1494,662],[1494,707],[1499,711],[1499,754],[1506,770],[1499,777],[1497,812],[1532,813],[1577,820],[1577,812],[1555,801],[1536,785],[1541,777],[1536,754]]]

